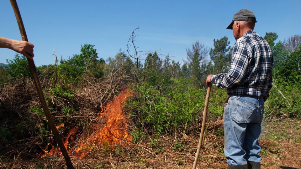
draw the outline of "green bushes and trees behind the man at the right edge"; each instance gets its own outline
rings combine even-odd
[[[301,49],[291,53],[273,49],[275,56],[274,86],[266,102],[266,112],[272,115],[288,115],[301,120]]]

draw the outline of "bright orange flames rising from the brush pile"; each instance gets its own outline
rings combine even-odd
[[[87,138],[82,138],[81,143],[77,148],[68,151],[68,154],[73,157],[83,158],[93,148],[98,146],[107,146],[106,148],[114,149],[115,144],[130,144],[131,136],[129,135],[129,129],[127,126],[128,119],[125,113],[122,111],[125,101],[132,95],[129,89],[115,97],[114,100],[106,105],[106,109],[103,112],[98,113],[99,119],[103,119],[106,123],[99,125],[92,125],[93,133]],[[76,133],[77,129],[73,129],[69,132],[64,141],[64,145],[67,148],[69,137]],[[61,155],[60,150],[52,148],[50,151],[45,151],[42,157],[47,155]]]

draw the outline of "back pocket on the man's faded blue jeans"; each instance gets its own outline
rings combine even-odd
[[[254,110],[255,108],[250,108],[236,103],[235,109],[231,114],[231,118],[237,123],[246,123]]]

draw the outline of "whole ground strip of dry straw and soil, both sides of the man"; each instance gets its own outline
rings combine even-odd
[[[222,127],[207,132],[197,168],[227,168],[223,155]],[[301,121],[289,118],[263,121],[261,168],[301,168]],[[192,168],[198,145],[196,136],[161,136],[139,143],[93,150],[83,159],[71,156],[75,168]],[[0,168],[66,168],[62,157],[31,158],[20,153],[13,161],[0,159]]]

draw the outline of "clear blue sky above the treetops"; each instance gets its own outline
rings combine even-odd
[[[278,40],[301,34],[300,0],[241,1],[21,1],[17,0],[28,39],[35,45],[37,66],[53,64],[55,53],[63,58],[79,54],[81,44],[93,44],[98,56],[114,57],[126,50],[131,32],[137,32],[141,51],[169,54],[172,60],[186,60],[186,48],[195,41],[213,48],[213,39],[227,36],[226,29],[237,11],[252,10],[263,37],[276,32]],[[8,0],[0,1],[0,36],[21,40],[16,18]],[[0,63],[13,59],[15,52],[0,49]]]

